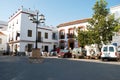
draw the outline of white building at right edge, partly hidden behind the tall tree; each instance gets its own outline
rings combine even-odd
[[[110,13],[115,15],[115,19],[120,19],[120,5],[111,7]],[[120,46],[120,32],[115,33],[112,43]]]

